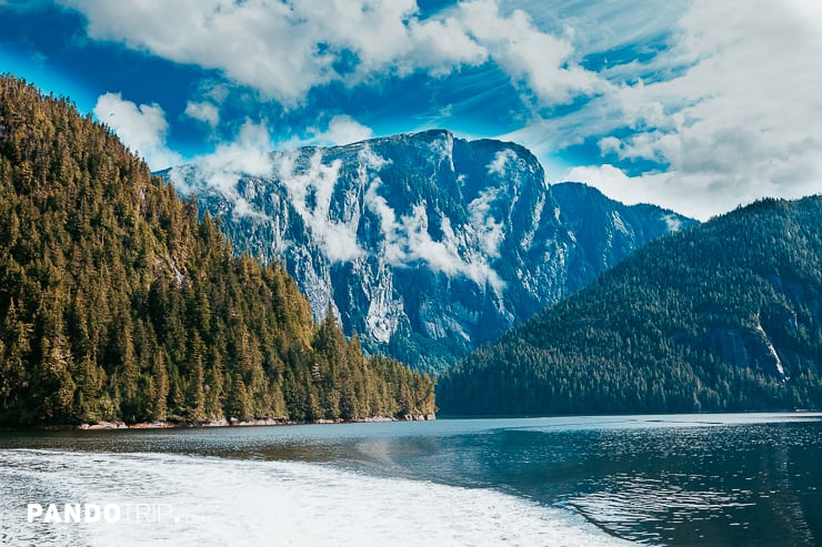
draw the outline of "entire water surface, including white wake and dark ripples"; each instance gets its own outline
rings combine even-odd
[[[9,545],[813,546],[822,414],[3,433],[0,486]]]

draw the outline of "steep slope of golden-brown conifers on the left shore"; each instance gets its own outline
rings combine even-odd
[[[0,77],[0,425],[433,409],[104,126]]]

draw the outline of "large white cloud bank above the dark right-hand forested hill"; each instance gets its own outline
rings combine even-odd
[[[609,130],[630,131],[600,139],[608,162],[567,176],[699,219],[762,195],[820,192],[822,133],[811,120],[822,119],[822,79],[809,67],[822,55],[822,10],[814,6],[693,2],[676,42],[656,60],[686,69],[603,99]],[[632,161],[660,168],[628,176],[614,166]]]

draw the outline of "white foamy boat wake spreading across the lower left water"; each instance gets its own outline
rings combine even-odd
[[[578,514],[495,490],[318,464],[0,450],[0,543],[10,545],[629,545]],[[28,503],[170,509],[162,521],[29,524]]]

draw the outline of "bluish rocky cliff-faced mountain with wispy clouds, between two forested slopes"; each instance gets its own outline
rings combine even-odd
[[[550,186],[527,149],[444,130],[163,173],[233,244],[282,261],[314,317],[442,369],[693,221]]]

